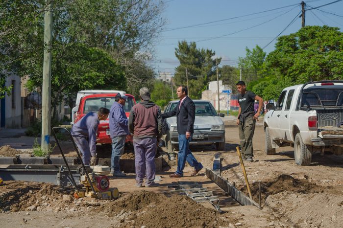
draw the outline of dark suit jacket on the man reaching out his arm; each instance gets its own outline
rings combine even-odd
[[[180,106],[180,101],[175,109],[171,112],[162,114],[162,118],[168,118],[176,115],[177,133],[186,135],[186,132],[194,133],[194,120],[196,118],[196,106],[188,96]]]

